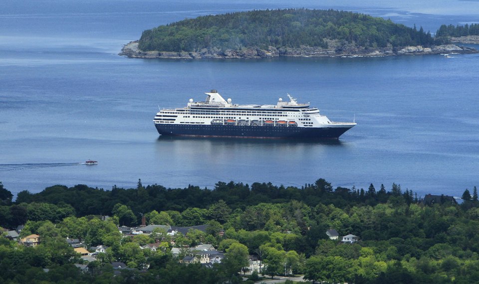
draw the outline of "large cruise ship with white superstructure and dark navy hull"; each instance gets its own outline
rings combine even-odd
[[[317,108],[287,95],[276,105],[239,105],[216,90],[184,108],[161,110],[153,120],[160,135],[238,138],[338,139],[355,122],[332,122]]]

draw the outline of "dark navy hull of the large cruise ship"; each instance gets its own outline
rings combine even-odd
[[[155,124],[155,126],[158,133],[165,136],[338,139],[354,125],[333,124],[331,127],[322,128],[178,124]]]

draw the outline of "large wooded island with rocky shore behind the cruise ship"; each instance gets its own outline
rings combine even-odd
[[[193,59],[478,52],[451,44],[450,36],[433,37],[422,27],[418,30],[355,12],[267,9],[161,25],[143,31],[141,38],[126,44],[120,54]]]

